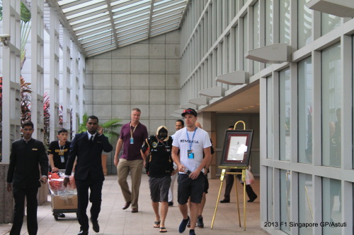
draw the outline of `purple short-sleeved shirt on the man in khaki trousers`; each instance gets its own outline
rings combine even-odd
[[[132,131],[134,127],[132,126]],[[123,153],[120,158],[132,160],[142,160],[140,150],[142,149],[142,143],[147,139],[147,127],[142,123],[137,125],[133,133],[134,143],[130,144],[130,123],[124,124],[120,130],[120,137],[123,140]]]

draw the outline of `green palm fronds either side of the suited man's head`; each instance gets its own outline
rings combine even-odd
[[[79,124],[79,129],[78,133],[85,132],[87,131],[86,128],[86,121],[89,118],[89,115],[86,113],[82,116],[81,123]],[[103,127],[103,131],[105,136],[108,137],[108,140],[110,143],[113,143],[118,137],[119,133],[117,132],[118,128],[122,126],[120,124],[121,119],[110,119],[109,121],[106,121],[105,123],[99,123],[99,126]]]

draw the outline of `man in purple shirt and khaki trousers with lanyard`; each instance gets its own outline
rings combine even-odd
[[[142,155],[140,149],[142,143],[147,139],[147,127],[139,122],[140,109],[132,109],[132,121],[122,126],[120,138],[115,147],[114,165],[117,167],[118,183],[122,189],[125,199],[125,210],[132,204],[132,213],[138,212],[137,200],[139,198],[140,182],[142,181]],[[118,158],[119,152],[123,146],[123,153]],[[132,191],[130,192],[127,176],[130,172],[132,179]]]

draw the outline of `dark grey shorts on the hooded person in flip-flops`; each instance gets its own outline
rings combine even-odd
[[[168,202],[171,176],[149,177],[150,196],[153,203]]]

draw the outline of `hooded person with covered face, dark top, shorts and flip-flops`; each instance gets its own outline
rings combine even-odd
[[[166,126],[159,126],[156,135],[151,135],[142,145],[142,159],[144,159],[149,176],[152,208],[155,212],[154,228],[166,232],[165,219],[169,210],[169,187],[173,174],[171,158],[172,138],[168,135]],[[159,213],[161,202],[161,217]]]

